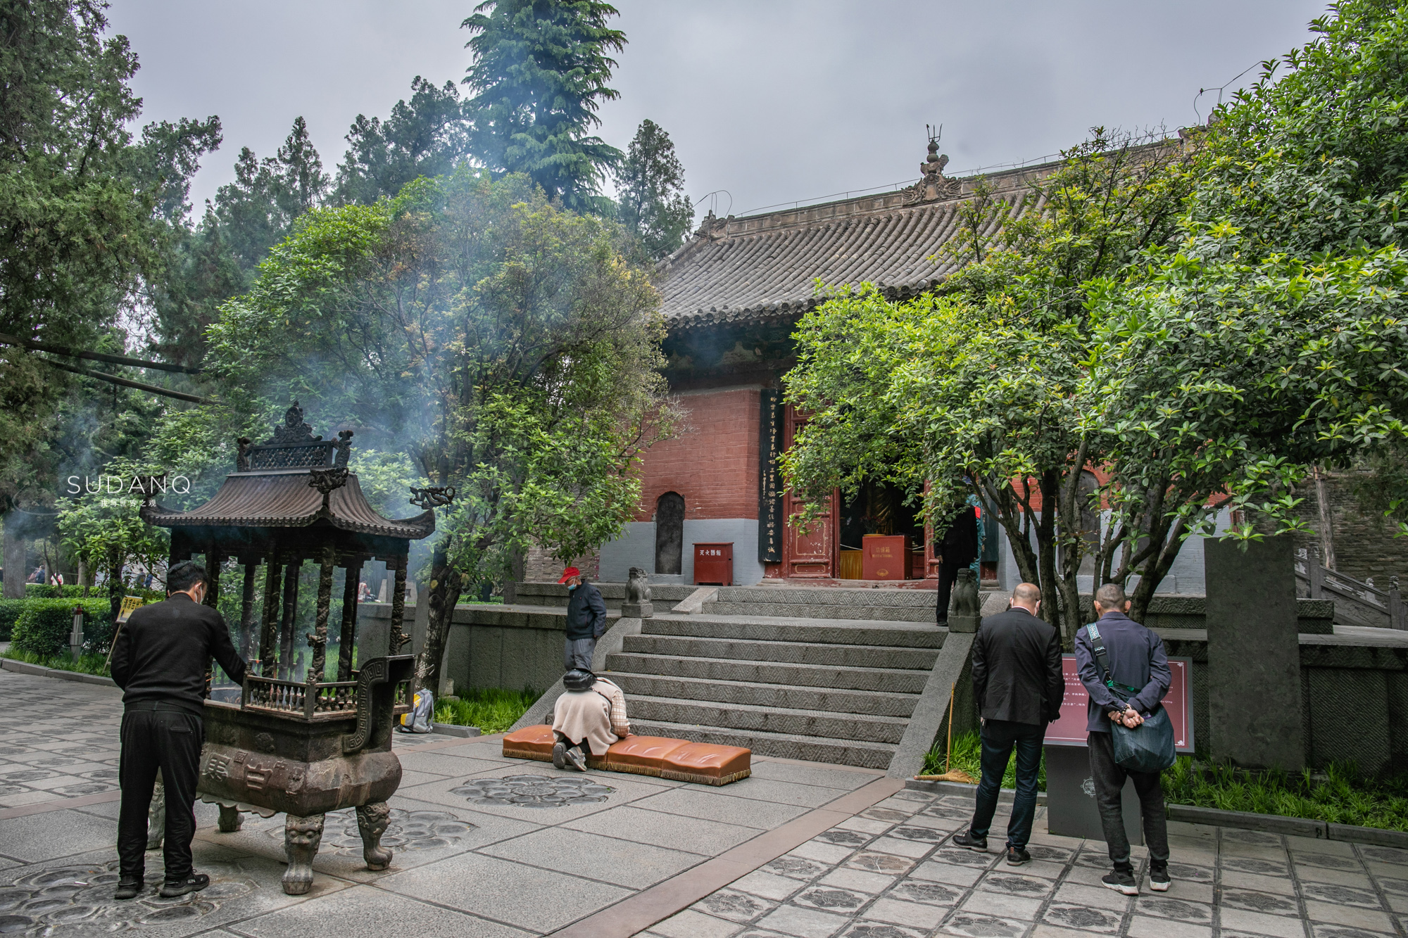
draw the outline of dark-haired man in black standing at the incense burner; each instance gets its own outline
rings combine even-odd
[[[210,876],[191,869],[196,835],[196,780],[206,738],[206,669],[214,658],[237,684],[245,661],[230,642],[220,613],[203,606],[206,568],[186,561],[166,573],[166,600],[142,606],[113,642],[113,682],[122,689],[122,756],[117,821],[121,863],[115,899],[142,892],[146,811],[156,770],[166,787],[165,899],[199,892]]]

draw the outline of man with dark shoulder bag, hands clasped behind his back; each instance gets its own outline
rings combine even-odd
[[[1126,777],[1133,780],[1143,814],[1145,845],[1149,848],[1149,887],[1162,893],[1169,889],[1169,825],[1163,811],[1163,787],[1157,772],[1132,772],[1115,762],[1111,725],[1117,721],[1129,728],[1142,724],[1169,693],[1171,675],[1163,639],[1125,615],[1128,611],[1129,600],[1118,584],[1105,583],[1095,592],[1095,630],[1105,645],[1110,673],[1100,668],[1090,625],[1076,632],[1076,666],[1090,692],[1086,717],[1090,776],[1114,865],[1101,883],[1125,896],[1138,896],[1121,790]],[[1107,680],[1115,687],[1111,689]]]

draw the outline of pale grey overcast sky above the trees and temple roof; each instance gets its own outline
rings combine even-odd
[[[191,190],[197,206],[230,182],[241,146],[273,155],[294,117],[335,172],[359,113],[384,117],[415,75],[458,82],[469,65],[459,24],[470,0],[111,1],[113,30],[141,59],[144,123],[218,114],[224,124],[224,146]],[[950,175],[1039,159],[1097,124],[1191,124],[1198,89],[1304,44],[1326,3],[615,6],[629,44],[601,137],[625,149],[649,117],[674,139],[696,203],[728,190],[718,213],[743,214],[914,179],[926,123],[943,125]],[[1215,90],[1198,101],[1204,117],[1214,103]]]

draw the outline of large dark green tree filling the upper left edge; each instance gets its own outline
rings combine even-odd
[[[134,138],[137,56],[104,35],[103,6],[0,3],[0,332],[79,348],[110,341],[162,276],[189,176],[220,138],[215,118]],[[86,389],[32,352],[0,348],[0,510],[52,504],[59,408]]]

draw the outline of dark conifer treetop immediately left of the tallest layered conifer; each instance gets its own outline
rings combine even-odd
[[[358,114],[346,141],[334,201],[369,206],[453,170],[470,151],[470,121],[453,82],[435,87],[417,75],[410,101],[397,101],[386,121]]]

